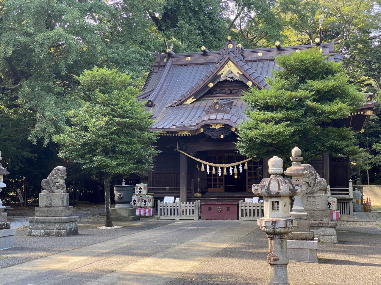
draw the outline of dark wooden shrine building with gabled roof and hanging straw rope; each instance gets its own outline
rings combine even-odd
[[[321,44],[320,48],[329,55],[328,60],[341,62],[343,56],[334,53],[334,44]],[[219,51],[201,47],[195,53],[175,54],[166,49],[165,54],[155,54],[153,70],[138,100],[147,101],[147,109],[152,112],[152,130],[160,131],[157,149],[161,153],[155,157],[152,171],[134,174],[134,181],[147,182],[148,192],[155,199],[177,196],[186,202],[252,198],[251,185],[268,177],[268,158],[243,157],[235,147],[237,125],[247,120],[242,92],[249,87],[267,88],[266,77],[279,69],[275,56],[312,47],[282,47],[277,42],[276,47],[244,49],[229,38]],[[333,125],[362,131],[376,103],[373,94],[364,96],[364,105],[357,112]],[[213,166],[200,161],[234,166],[213,170]],[[326,153],[309,163],[331,189],[348,187],[349,158]]]

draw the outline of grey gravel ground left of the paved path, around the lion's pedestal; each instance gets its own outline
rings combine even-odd
[[[122,228],[102,230],[97,228],[97,226],[104,226],[105,216],[102,206],[104,204],[73,206],[73,215],[78,215],[80,220],[78,220],[79,234],[71,237],[27,236],[28,218],[34,216],[34,206],[12,206],[8,221],[11,222],[12,228],[17,229],[14,238],[15,246],[0,251],[0,268],[175,222],[174,220],[142,218],[136,222],[114,222],[114,226],[122,226]]]

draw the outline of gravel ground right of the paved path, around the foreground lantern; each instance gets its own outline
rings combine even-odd
[[[290,261],[290,285],[381,285],[381,231],[337,227],[339,244],[319,244],[319,263]],[[168,285],[259,285],[269,282],[268,242],[259,229]]]

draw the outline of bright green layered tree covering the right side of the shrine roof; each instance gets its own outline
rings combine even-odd
[[[238,127],[237,147],[247,156],[274,154],[286,158],[294,146],[304,160],[324,152],[354,155],[354,132],[335,127],[363,103],[363,95],[348,84],[340,63],[329,62],[318,48],[277,57],[282,70],[274,70],[269,89],[245,93],[248,121]]]

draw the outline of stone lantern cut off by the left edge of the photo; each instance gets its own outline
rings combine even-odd
[[[1,157],[1,152],[0,152],[0,160],[2,159],[3,158]],[[6,170],[6,168],[3,167],[0,163],[0,193],[5,187],[5,183],[3,182],[3,177],[6,174],[9,174],[8,170]],[[0,199],[0,250],[13,247],[14,235],[16,234],[16,230],[11,229],[11,223],[6,221],[7,215],[6,215],[6,212],[4,212],[4,209],[5,209],[5,206],[3,206],[3,202]]]

